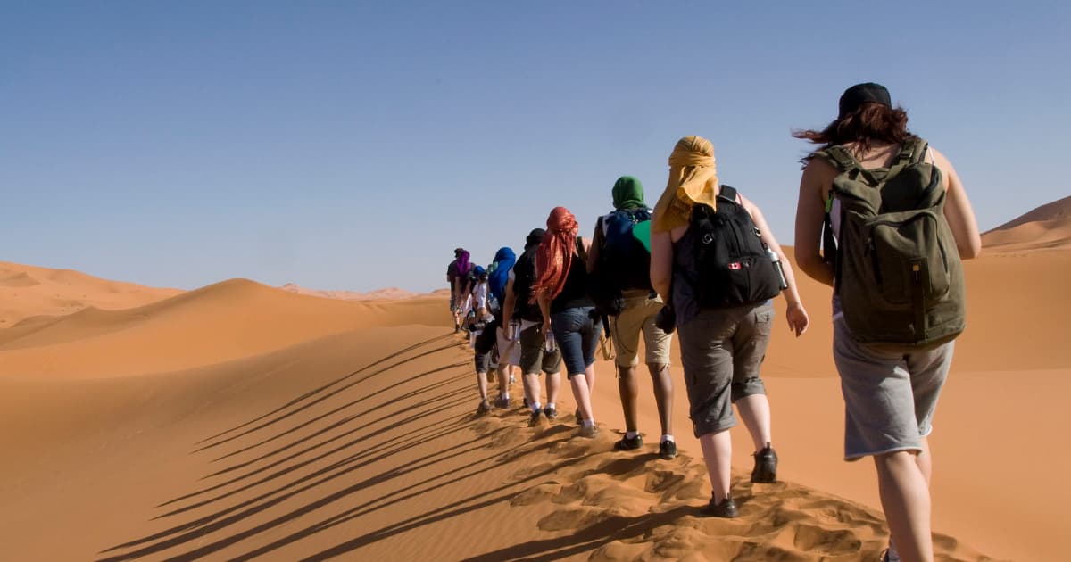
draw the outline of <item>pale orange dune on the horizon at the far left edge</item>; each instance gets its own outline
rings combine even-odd
[[[0,328],[31,316],[65,315],[89,306],[130,308],[180,292],[101,279],[72,270],[0,261]]]

